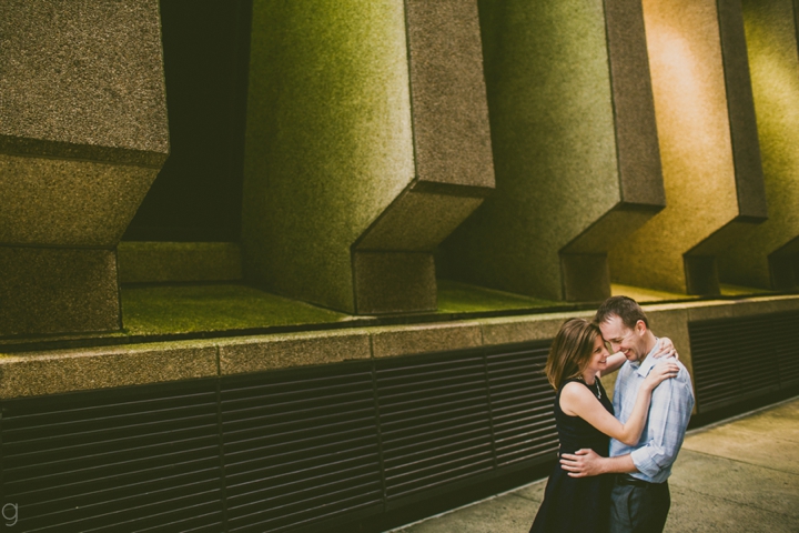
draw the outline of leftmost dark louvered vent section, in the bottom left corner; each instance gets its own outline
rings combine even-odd
[[[220,531],[214,381],[2,403],[17,531]]]

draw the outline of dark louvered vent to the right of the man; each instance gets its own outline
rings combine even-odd
[[[697,411],[705,413],[799,382],[799,312],[690,322]]]

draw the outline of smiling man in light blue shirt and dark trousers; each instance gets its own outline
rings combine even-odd
[[[616,379],[614,410],[626,422],[638,389],[656,364],[651,356],[657,338],[640,305],[627,296],[607,299],[597,310],[595,322],[613,352],[627,358]],[[638,444],[628,446],[610,440],[610,456],[591,450],[564,454],[560,463],[569,475],[580,477],[614,473],[610,493],[610,532],[660,532],[671,503],[667,479],[685,439],[694,409],[690,375],[681,363],[679,373],[655,389],[649,416]]]

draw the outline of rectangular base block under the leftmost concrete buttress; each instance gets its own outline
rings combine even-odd
[[[113,251],[0,247],[0,336],[120,325]]]

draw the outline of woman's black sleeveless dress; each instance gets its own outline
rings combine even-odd
[[[598,379],[594,385],[579,380],[564,381],[555,396],[555,423],[560,440],[558,456],[590,447],[607,457],[610,439],[579,416],[569,416],[560,410],[560,391],[569,381],[587,386],[595,396],[600,395],[599,402],[614,414],[613,404]],[[538,507],[530,533],[606,532],[611,486],[610,475],[569,477],[565,470],[560,470],[560,463],[557,463],[549,475],[544,501]]]

